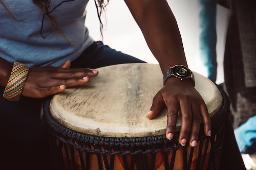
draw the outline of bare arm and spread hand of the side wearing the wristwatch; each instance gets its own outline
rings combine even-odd
[[[139,25],[151,52],[159,62],[164,74],[174,65],[185,65],[186,57],[182,38],[173,12],[166,0],[125,0],[132,16]],[[153,98],[148,119],[155,118],[167,107],[166,137],[172,139],[178,112],[182,114],[179,143],[189,141],[195,147],[200,130],[200,121],[204,123],[204,133],[211,135],[211,121],[207,107],[190,79],[168,78],[164,86]]]

